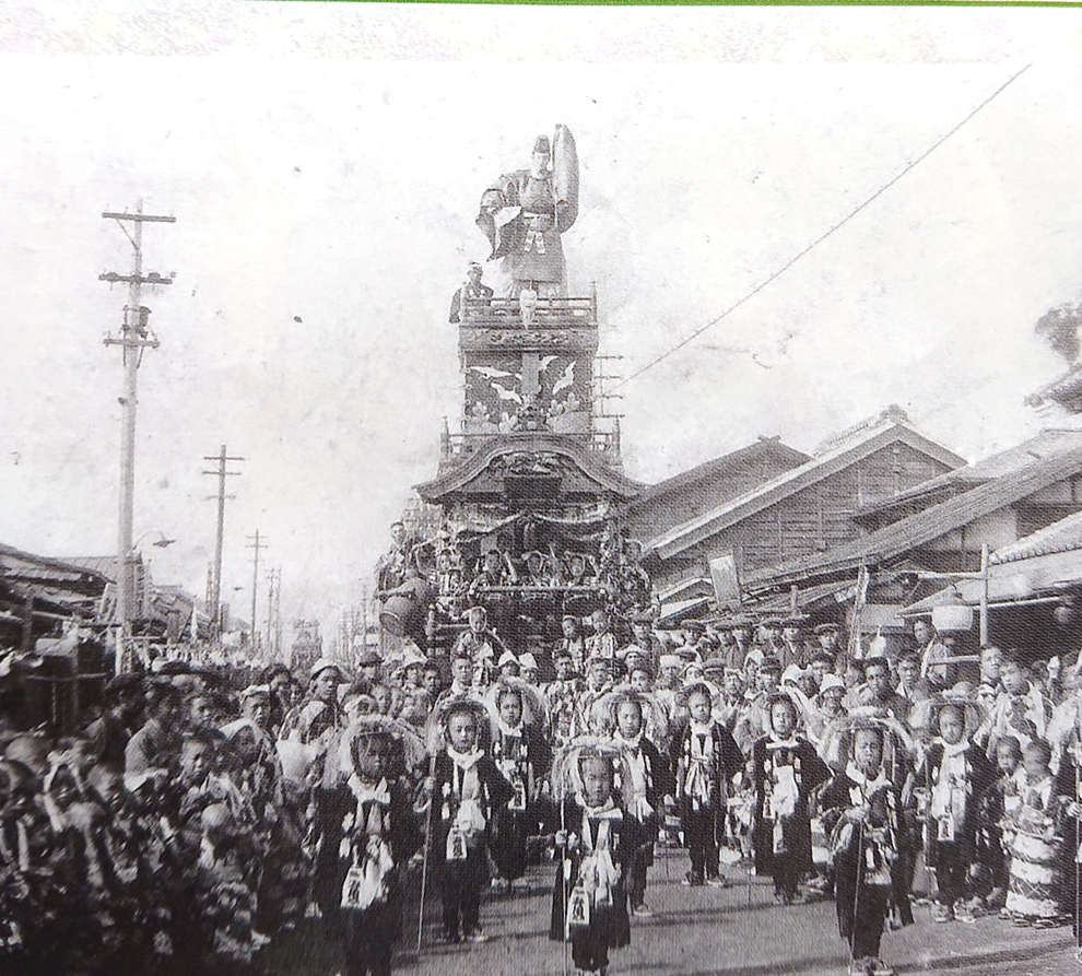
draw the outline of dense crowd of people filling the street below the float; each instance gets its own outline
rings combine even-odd
[[[744,862],[779,906],[833,898],[851,974],[891,972],[922,895],[929,924],[1078,931],[1078,665],[988,647],[968,682],[924,622],[850,652],[833,624],[603,610],[538,660],[467,616],[446,658],[304,685],[167,661],[62,738],[0,714],[0,968],[258,973],[305,920],[378,976],[408,873],[444,940],[483,943],[486,897],[555,862],[550,936],[604,974],[659,845],[704,897]]]

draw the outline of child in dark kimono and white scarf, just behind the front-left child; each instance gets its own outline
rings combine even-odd
[[[483,710],[481,705],[480,709]],[[489,886],[489,845],[496,813],[514,790],[478,748],[479,706],[469,699],[445,713],[446,748],[436,755],[430,863],[444,902],[444,931],[452,943],[486,942],[481,896]]]

